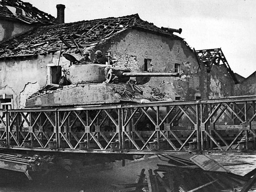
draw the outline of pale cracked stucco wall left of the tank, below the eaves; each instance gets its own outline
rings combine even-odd
[[[28,91],[26,86],[34,84],[34,87],[43,87],[46,84],[49,60],[49,56],[39,56],[25,61],[0,61],[0,95],[12,95],[13,108],[20,108],[20,94]]]

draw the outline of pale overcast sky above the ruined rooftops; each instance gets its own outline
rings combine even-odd
[[[256,0],[23,0],[65,22],[138,13],[154,25],[182,28],[179,35],[196,50],[220,48],[235,73],[256,71]],[[178,35],[178,34],[177,34]]]

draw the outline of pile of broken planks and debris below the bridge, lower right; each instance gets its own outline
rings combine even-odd
[[[143,169],[136,183],[120,184],[119,192],[248,192],[255,187],[256,169],[241,176],[226,169],[230,164],[221,165],[207,155],[189,160],[164,157],[168,164],[157,164],[158,169],[149,169],[148,175]]]

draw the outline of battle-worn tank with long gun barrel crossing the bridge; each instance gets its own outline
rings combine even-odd
[[[168,98],[148,85],[151,77],[176,77],[178,73],[131,73],[128,68],[79,62],[64,53],[70,66],[62,70],[59,84],[48,84],[26,100],[26,108],[104,105],[163,101]]]

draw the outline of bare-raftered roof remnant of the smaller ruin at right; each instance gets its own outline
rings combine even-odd
[[[221,48],[196,50],[195,53],[199,58],[199,60],[208,67],[209,71],[212,65],[216,65],[216,66],[224,65],[224,67],[227,69],[227,72],[232,77],[234,83],[235,84],[239,83],[239,81],[236,79],[236,76],[233,70],[231,70]]]

